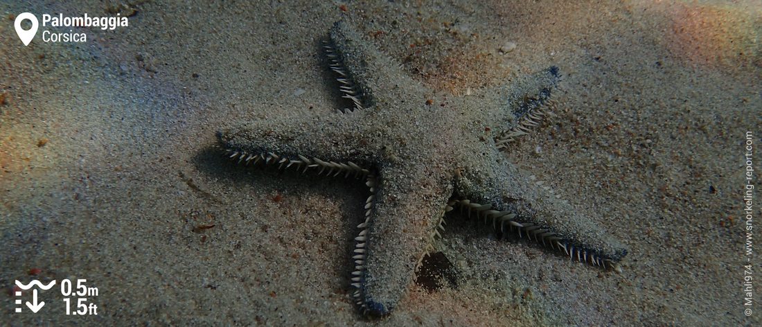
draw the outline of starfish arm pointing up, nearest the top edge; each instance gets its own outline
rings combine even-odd
[[[325,50],[331,69],[338,74],[344,98],[354,101],[357,108],[375,105],[379,100],[376,95],[389,91],[384,88],[421,86],[402,71],[399,63],[383,55],[372,43],[363,42],[363,37],[347,21],[337,21],[330,37]]]

